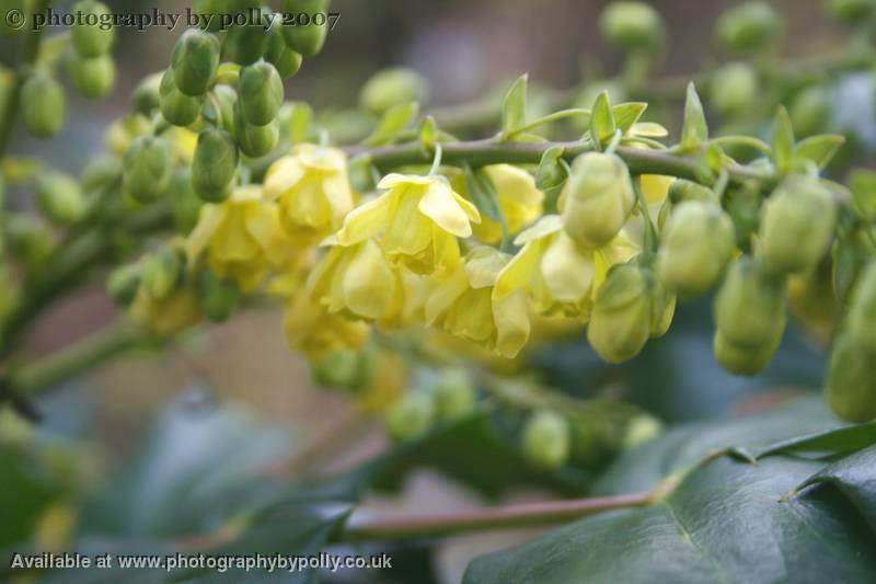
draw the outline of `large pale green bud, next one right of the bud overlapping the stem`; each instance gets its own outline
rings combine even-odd
[[[657,277],[683,298],[705,294],[721,278],[735,249],[733,221],[721,207],[685,201],[672,210],[657,255]]]

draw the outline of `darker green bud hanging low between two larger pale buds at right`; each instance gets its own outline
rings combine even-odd
[[[756,351],[772,346],[785,330],[784,283],[758,260],[740,257],[715,297],[715,325],[725,341]]]

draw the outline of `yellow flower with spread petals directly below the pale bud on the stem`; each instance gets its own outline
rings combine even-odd
[[[515,240],[523,248],[502,271],[493,293],[503,299],[526,289],[543,314],[587,319],[609,268],[639,250],[624,231],[603,248],[581,248],[563,231],[557,215],[548,215]]]

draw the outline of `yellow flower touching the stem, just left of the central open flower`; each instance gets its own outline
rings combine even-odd
[[[293,244],[313,245],[341,227],[353,209],[346,156],[335,148],[298,145],[267,170],[264,194],[279,204]]]

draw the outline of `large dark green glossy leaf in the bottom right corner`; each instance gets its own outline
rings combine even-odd
[[[804,404],[684,432],[694,443],[705,435],[706,443],[724,451],[791,431],[795,415],[803,426],[833,423],[823,406],[819,412],[812,401]],[[677,460],[679,449],[685,450],[687,442],[665,436],[620,465],[632,470],[648,463],[647,455],[660,454]],[[759,584],[811,582],[823,574],[838,582],[869,582],[876,579],[875,450],[834,463],[779,454],[758,463],[707,458],[680,476],[675,491],[660,501],[586,517],[479,558],[463,582]],[[825,483],[832,486],[819,486]],[[807,484],[816,486],[788,496]]]

